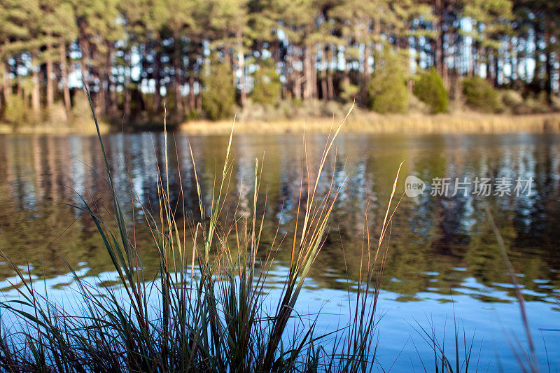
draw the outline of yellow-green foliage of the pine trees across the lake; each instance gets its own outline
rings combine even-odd
[[[442,9],[429,1],[409,0],[394,4],[388,0],[321,3],[310,0],[3,0],[0,1],[0,80],[9,80],[13,88],[18,86],[17,92],[22,91],[22,80],[33,82],[32,90],[26,92],[33,97],[28,105],[33,106],[33,111],[27,114],[27,120],[38,120],[41,108],[50,109],[55,99],[67,98],[64,82],[69,81],[70,54],[79,52],[83,56],[87,84],[93,92],[107,98],[99,102],[100,114],[104,117],[122,118],[113,111],[127,111],[125,114],[135,121],[152,120],[161,113],[162,103],[167,102],[171,118],[182,120],[188,115],[191,103],[184,105],[176,92],[187,84],[192,85],[198,105],[198,87],[204,83],[202,80],[207,80],[204,77],[208,72],[204,67],[207,50],[224,57],[224,62],[230,65],[232,82],[239,73],[246,73],[255,56],[262,57],[267,50],[274,52],[265,59],[274,60],[275,66],[283,65],[286,70],[280,81],[271,69],[259,69],[255,73],[255,87],[251,84],[243,87],[246,92],[253,92],[252,99],[258,104],[269,108],[269,104],[276,103],[277,92],[281,89],[291,90],[295,99],[318,99],[320,91],[316,87],[322,85],[321,90],[325,90],[328,99],[339,102],[358,99],[360,105],[370,104],[380,112],[402,112],[405,111],[406,92],[400,83],[395,84],[399,73],[387,71],[391,76],[389,80],[379,76],[385,68],[378,62],[387,56],[374,56],[377,81],[369,87],[369,102],[364,102],[370,78],[365,76],[369,75],[366,72],[370,71],[370,57],[379,54],[377,46],[381,43],[384,43],[383,50],[392,51],[387,54],[397,55],[398,50],[406,50],[403,42],[414,36],[426,39],[425,43],[409,45],[414,55],[423,53],[423,44],[433,45],[430,51],[426,50],[426,60],[435,64],[444,55],[444,45],[434,42],[440,38],[441,30],[447,30],[449,43],[445,47],[458,53],[457,58],[448,61],[450,71],[458,71],[459,62],[470,66],[469,73],[473,73],[475,66],[481,66],[480,62],[507,59],[508,48],[504,48],[504,43],[517,38],[521,55],[535,54],[535,71],[549,71],[531,74],[533,78],[523,74],[517,79],[530,84],[535,94],[547,90],[548,106],[531,99],[530,105],[516,109],[506,106],[505,110],[532,113],[559,108],[558,104],[550,106],[554,99],[550,91],[558,83],[557,74],[550,73],[556,71],[554,66],[558,63],[554,46],[560,38],[558,1],[447,1]],[[468,27],[467,23],[470,23]],[[368,24],[374,27],[364,28]],[[538,30],[545,30],[547,37],[542,36],[543,45],[535,51],[534,43],[530,43],[526,35]],[[270,48],[279,41],[281,34],[286,36],[283,48]],[[388,35],[391,37],[386,37]],[[476,48],[468,52],[461,48],[463,37],[471,38]],[[206,46],[201,43],[203,40]],[[70,45],[76,48],[72,53]],[[321,48],[317,48],[318,45]],[[282,52],[276,52],[280,50]],[[549,58],[543,58],[547,55]],[[395,67],[387,66],[388,70]],[[501,71],[492,71],[491,78],[496,81],[497,76],[509,78],[503,66],[499,67]],[[37,76],[39,70],[40,77]],[[141,76],[142,80],[148,78],[149,84],[155,83],[157,87],[149,105],[139,105],[140,100],[133,97],[138,92],[127,92],[136,91],[135,85],[140,83],[131,85],[132,70],[138,71],[134,76]],[[15,71],[18,73],[14,74]],[[45,73],[52,79],[45,79]],[[401,73],[405,76],[407,69],[402,69]],[[340,79],[342,76],[345,78]],[[269,80],[271,83],[267,83]],[[436,94],[418,94],[422,101],[429,101],[427,105],[432,112],[445,111],[439,81],[433,83],[433,86],[428,84],[427,90],[434,90]],[[170,88],[166,97],[160,97],[162,86]],[[208,90],[216,87],[218,85]],[[223,87],[223,90],[229,87],[228,83],[228,88]],[[458,86],[452,88],[456,92]],[[118,94],[112,94],[113,90]],[[215,97],[205,95],[209,117],[228,115],[228,108],[218,107],[220,101],[216,97],[222,93],[213,94]],[[116,96],[126,97],[127,104],[117,105]],[[246,105],[246,101],[242,101]],[[224,104],[230,102],[228,92]],[[65,104],[69,110],[68,102]],[[495,108],[483,110],[494,111]]]

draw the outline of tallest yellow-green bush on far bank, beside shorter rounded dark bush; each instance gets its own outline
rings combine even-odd
[[[367,85],[369,108],[378,113],[405,113],[408,94],[402,58],[396,52],[384,49],[377,53],[375,66]]]

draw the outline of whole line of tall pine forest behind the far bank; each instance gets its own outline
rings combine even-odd
[[[237,104],[448,100],[532,113],[559,92],[557,0],[2,0],[0,121],[177,122]],[[498,90],[499,89],[499,90]],[[53,119],[54,118],[54,119]]]

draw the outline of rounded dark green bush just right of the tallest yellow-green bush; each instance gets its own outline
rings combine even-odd
[[[414,95],[430,106],[432,113],[445,113],[449,104],[449,93],[442,77],[434,68],[424,71],[414,84]]]

